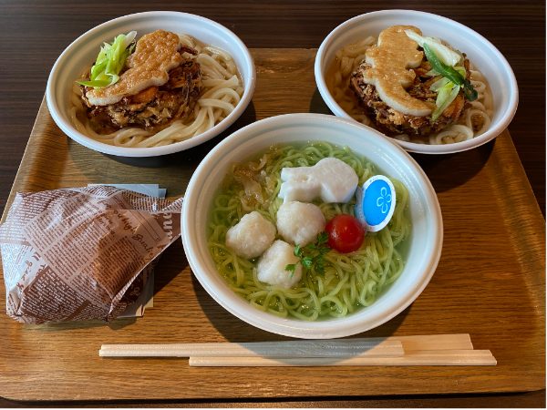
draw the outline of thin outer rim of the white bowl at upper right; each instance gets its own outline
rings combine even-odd
[[[509,88],[508,103],[507,103],[507,107],[503,108],[502,110],[501,120],[494,126],[490,125],[490,128],[486,132],[481,134],[480,136],[471,138],[469,140],[455,142],[453,144],[444,144],[444,145],[419,144],[416,142],[401,141],[395,138],[387,137],[384,134],[382,134],[384,135],[385,138],[394,139],[397,145],[401,146],[403,149],[406,149],[408,152],[416,152],[420,154],[433,154],[433,155],[452,154],[452,153],[480,147],[481,145],[486,144],[490,140],[497,138],[501,134],[501,132],[503,132],[503,130],[509,126],[518,108],[519,87],[518,87],[514,72],[511,68],[511,65],[509,64],[505,56],[501,54],[501,51],[496,46],[494,46],[490,42],[490,40],[488,40],[486,37],[480,35],[478,32],[476,32],[472,28],[465,26],[456,20],[452,20],[443,15],[436,15],[433,13],[428,13],[428,12],[423,12],[418,10],[410,10],[410,9],[377,10],[377,11],[365,13],[362,15],[356,15],[344,21],[340,25],[335,26],[335,28],[325,37],[325,39],[323,40],[323,42],[317,49],[317,54],[315,55],[315,65],[314,65],[315,84],[317,85],[319,93],[321,94],[321,97],[323,97],[325,104],[328,106],[329,109],[331,109],[331,111],[333,111],[336,117],[347,118],[352,121],[358,122],[354,118],[352,118],[349,114],[347,114],[346,111],[342,109],[336,103],[334,97],[332,97],[331,93],[328,91],[328,87],[326,87],[325,76],[324,76],[325,70],[322,67],[322,63],[325,58],[325,52],[328,49],[328,47],[331,46],[335,38],[340,33],[343,33],[344,31],[346,31],[348,27],[354,26],[358,23],[361,23],[369,19],[373,19],[376,17],[383,17],[383,16],[397,16],[397,17],[405,16],[407,18],[412,16],[420,16],[422,18],[428,18],[430,20],[439,20],[439,24],[444,23],[445,25],[457,27],[458,29],[467,32],[470,36],[473,36],[477,41],[483,43],[485,46],[490,48],[490,51],[498,58],[498,61],[496,62],[497,63],[496,67],[498,67],[497,70],[503,71],[499,69],[499,66],[503,67],[504,72],[507,74],[507,77],[509,78],[509,84],[507,86]]]

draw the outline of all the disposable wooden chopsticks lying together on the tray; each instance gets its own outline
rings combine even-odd
[[[495,365],[467,333],[252,343],[103,344],[102,357],[188,357],[191,366]]]

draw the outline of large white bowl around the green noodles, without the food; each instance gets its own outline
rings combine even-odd
[[[412,231],[407,261],[397,281],[371,306],[342,319],[305,322],[254,308],[236,295],[217,272],[207,246],[207,220],[215,191],[227,170],[274,144],[319,140],[348,146],[377,164],[409,191]],[[442,248],[439,201],[428,177],[407,152],[374,129],[320,114],[287,114],[248,125],[224,138],[201,161],[186,190],[181,217],[186,256],[203,288],[227,311],[260,329],[307,339],[343,337],[387,322],[413,302],[428,284]]]

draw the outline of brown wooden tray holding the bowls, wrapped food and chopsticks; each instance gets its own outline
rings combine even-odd
[[[329,112],[314,80],[315,50],[254,49],[252,105],[225,135],[256,119]],[[224,136],[225,136],[224,135]],[[181,196],[221,138],[164,159],[109,158],[67,138],[38,112],[15,191],[88,183],[160,183]],[[185,359],[113,360],[101,343],[284,340],[227,313],[193,278],[181,241],[156,268],[154,308],[115,323],[22,325],[0,315],[0,396],[14,400],[233,399],[531,391],[545,387],[545,220],[507,131],[445,156],[416,155],[443,212],[439,268],[405,312],[359,336],[470,333],[489,367],[190,368]],[[7,209],[7,208],[6,208]],[[2,281],[0,281],[2,282]],[[0,305],[5,292],[0,292]]]

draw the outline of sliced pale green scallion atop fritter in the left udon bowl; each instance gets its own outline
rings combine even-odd
[[[100,47],[95,64],[91,67],[89,80],[77,81],[77,84],[95,88],[116,84],[119,80],[119,72],[135,48],[135,36],[137,32],[131,31],[127,35],[116,36],[112,44],[104,43]]]

